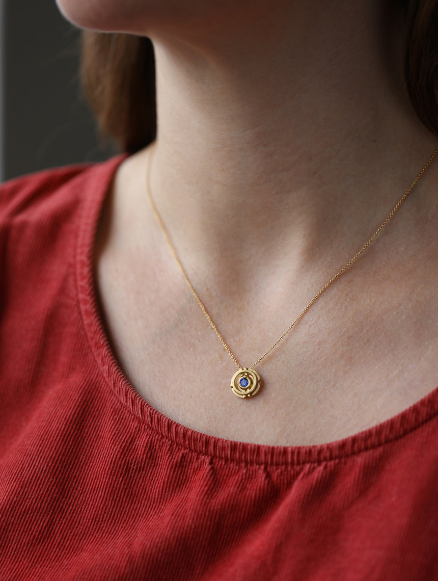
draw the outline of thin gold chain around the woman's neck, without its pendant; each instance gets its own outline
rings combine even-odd
[[[227,350],[229,356],[232,358],[232,360],[234,361],[234,363],[240,369],[240,368],[242,368],[242,366],[239,364],[239,361],[236,359],[236,357],[234,356],[234,354],[231,352],[231,349],[228,347],[227,343],[225,343],[224,338],[222,337],[221,333],[218,331],[216,325],[213,322],[213,319],[210,317],[209,312],[207,311],[206,307],[204,306],[204,303],[200,299],[200,297],[199,297],[198,293],[196,292],[196,290],[193,288],[193,285],[190,282],[189,277],[187,276],[187,274],[186,274],[186,272],[184,270],[184,267],[181,264],[181,261],[179,260],[178,254],[175,251],[174,246],[173,246],[173,244],[170,241],[170,237],[167,234],[167,230],[164,227],[163,220],[161,220],[161,216],[158,213],[158,210],[157,210],[157,208],[155,206],[155,202],[153,201],[152,192],[151,192],[151,188],[150,188],[150,167],[152,165],[152,159],[153,159],[153,155],[152,154],[153,154],[153,149],[154,148],[155,148],[155,144],[153,144],[151,146],[150,150],[149,150],[147,170],[146,170],[146,191],[148,193],[149,203],[150,203],[150,206],[152,207],[153,214],[155,216],[155,219],[156,219],[157,223],[160,226],[161,231],[163,232],[163,235],[164,235],[164,238],[166,239],[167,245],[169,246],[170,251],[171,251],[173,257],[174,257],[175,261],[178,264],[179,270],[181,271],[181,274],[184,277],[184,280],[185,280],[186,284],[188,285],[188,287],[191,290],[193,296],[195,297],[196,301],[198,302],[200,308],[202,309],[202,312],[207,317],[207,320],[209,321],[211,327],[213,328],[213,331],[216,333],[216,335],[218,336],[218,338],[221,340],[221,343],[225,347],[225,349]],[[396,211],[403,204],[404,200],[411,193],[412,189],[415,187],[415,185],[420,180],[420,178],[423,176],[423,174],[425,174],[426,170],[428,169],[428,167],[432,163],[432,161],[435,158],[435,156],[437,155],[437,153],[438,153],[438,148],[435,149],[435,151],[429,157],[428,162],[425,164],[425,166],[419,172],[419,174],[417,175],[417,177],[415,178],[415,180],[412,182],[412,184],[410,185],[410,187],[408,187],[408,189],[404,192],[403,196],[401,196],[400,200],[398,200],[398,202],[393,207],[393,209],[390,211],[390,213],[387,215],[387,217],[385,218],[385,220],[383,220],[382,224],[380,224],[379,228],[376,229],[376,231],[371,236],[371,238],[368,239],[368,241],[364,244],[364,246],[362,246],[362,248],[356,254],[354,254],[353,258],[351,258],[347,262],[347,264],[345,266],[343,266],[337,274],[335,274],[334,277],[332,277],[329,281],[327,281],[325,283],[325,285],[322,286],[321,289],[318,290],[317,294],[313,297],[313,299],[310,301],[310,303],[308,303],[307,306],[304,307],[304,309],[301,311],[301,313],[298,315],[298,317],[295,319],[295,321],[293,321],[289,325],[289,327],[286,329],[286,331],[277,339],[277,341],[275,341],[275,343],[273,345],[271,345],[271,347],[267,351],[265,351],[265,353],[263,353],[263,355],[261,357],[259,357],[259,359],[257,359],[257,361],[255,361],[251,365],[252,368],[256,367],[256,365],[258,365],[269,353],[271,353],[272,349],[275,349],[275,347],[277,347],[278,343],[282,339],[284,339],[285,336],[289,333],[289,331],[291,329],[293,329],[293,327],[295,327],[295,325],[297,324],[297,322],[299,322],[300,319],[303,318],[303,316],[307,313],[307,311],[310,309],[310,307],[319,299],[319,297],[322,295],[322,293],[324,293],[324,291],[327,290],[329,288],[329,286],[331,286],[333,284],[333,282],[335,282],[342,274],[344,274],[344,272],[346,270],[348,270],[348,268],[350,268],[351,264],[353,264],[354,261],[356,261],[358,259],[358,257],[360,257],[361,254],[363,252],[365,252],[365,250],[368,248],[368,246],[371,244],[371,242],[374,241],[374,239],[379,234],[379,232],[382,231],[382,229],[386,226],[386,224],[394,216],[394,214],[396,213]]]

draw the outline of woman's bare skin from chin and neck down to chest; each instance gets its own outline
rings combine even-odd
[[[438,145],[404,88],[402,17],[380,0],[58,3],[78,26],[152,38],[153,197],[217,327],[252,364]],[[304,445],[369,428],[436,388],[438,163],[242,401],[153,218],[149,153],[120,167],[95,261],[114,353],[153,407],[210,435]]]

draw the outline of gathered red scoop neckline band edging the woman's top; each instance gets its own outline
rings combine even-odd
[[[82,174],[85,184],[81,188],[84,199],[76,243],[76,284],[82,324],[98,371],[128,412],[145,428],[202,456],[245,464],[292,467],[337,460],[375,449],[400,439],[438,414],[437,387],[399,414],[340,440],[309,446],[270,446],[196,432],[150,406],[125,378],[114,356],[100,315],[94,280],[94,253],[100,216],[116,172],[127,157],[126,154],[112,157],[107,162],[88,167]]]

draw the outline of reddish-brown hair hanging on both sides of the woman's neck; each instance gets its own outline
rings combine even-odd
[[[405,10],[405,81],[419,119],[438,136],[438,0],[398,0]],[[148,38],[87,31],[81,76],[101,135],[134,153],[156,134],[155,63]]]

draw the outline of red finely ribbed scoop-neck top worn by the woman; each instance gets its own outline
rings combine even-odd
[[[193,432],[132,389],[91,260],[122,159],[0,188],[0,579],[438,579],[438,389],[308,447]]]

